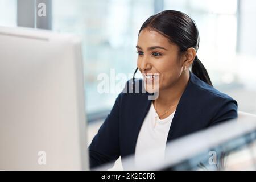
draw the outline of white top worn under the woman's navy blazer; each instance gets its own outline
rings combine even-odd
[[[154,150],[154,158],[146,159],[148,164],[155,162],[162,162],[164,160],[164,151],[166,149],[166,142],[168,133],[171,127],[172,119],[175,111],[165,119],[159,119],[153,102],[150,106],[141,130],[139,131],[136,148],[135,148],[135,164],[139,166],[144,162],[143,154]],[[157,120],[155,122],[155,116]]]

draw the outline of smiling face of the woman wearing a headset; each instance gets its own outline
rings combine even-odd
[[[143,75],[147,92],[170,88],[179,80],[183,71],[179,47],[171,44],[168,38],[144,28],[138,36],[136,48],[137,67]],[[151,74],[155,77],[150,77]]]

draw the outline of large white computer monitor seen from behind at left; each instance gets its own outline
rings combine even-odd
[[[0,170],[89,169],[80,39],[0,27]]]

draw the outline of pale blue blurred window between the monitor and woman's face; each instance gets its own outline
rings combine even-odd
[[[100,73],[133,73],[137,67],[136,43],[139,28],[154,14],[154,1],[52,1],[52,30],[82,37],[86,110],[111,109],[121,90],[97,92]],[[139,75],[139,73],[138,73]],[[118,83],[118,81],[116,81]]]

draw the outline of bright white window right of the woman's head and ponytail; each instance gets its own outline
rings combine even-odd
[[[235,82],[237,1],[166,0],[164,9],[183,11],[195,20],[200,33],[197,55],[212,76],[214,86]]]

